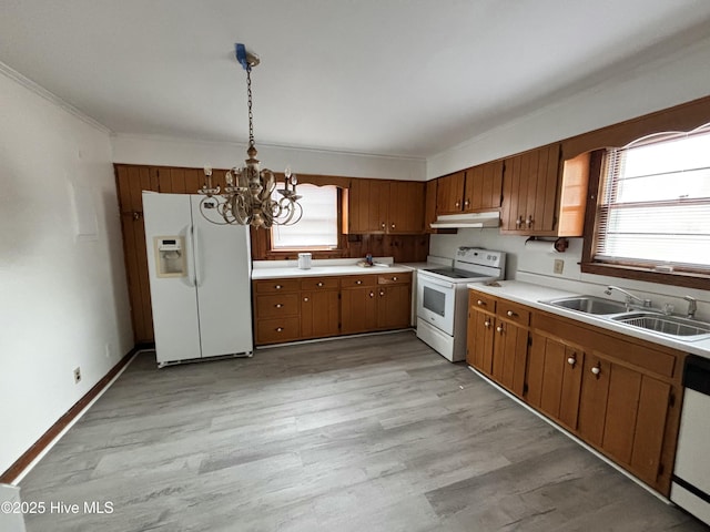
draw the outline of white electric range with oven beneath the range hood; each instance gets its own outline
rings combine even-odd
[[[417,337],[452,362],[466,359],[469,283],[505,278],[506,254],[459,247],[453,267],[417,272]]]

